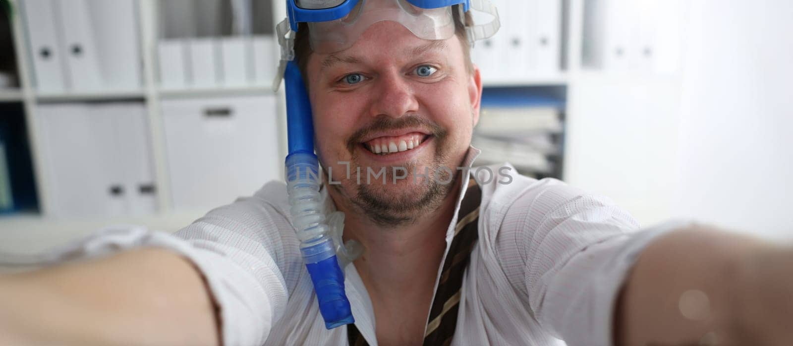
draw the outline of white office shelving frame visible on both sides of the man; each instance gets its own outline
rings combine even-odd
[[[11,0],[15,8],[21,6],[25,0]],[[25,33],[25,26],[21,23],[21,16],[13,17],[13,37],[17,65],[20,71],[20,88],[14,91],[0,92],[0,102],[21,102],[25,110],[25,120],[29,124],[28,135],[32,150],[34,175],[36,180],[36,192],[39,198],[39,211],[37,213],[24,213],[21,215],[11,215],[0,217],[0,229],[13,229],[15,231],[30,230],[33,233],[42,232],[63,232],[82,234],[92,231],[102,225],[113,223],[131,223],[147,225],[152,229],[175,230],[178,227],[188,224],[195,218],[200,217],[204,211],[185,213],[173,210],[172,198],[170,196],[169,172],[167,169],[167,157],[165,152],[166,144],[163,138],[163,114],[161,113],[161,102],[173,98],[205,98],[210,96],[228,95],[255,95],[273,94],[269,85],[251,87],[211,87],[211,88],[185,88],[179,90],[167,90],[159,87],[157,75],[157,42],[159,40],[160,29],[158,28],[159,2],[167,0],[137,0],[138,4],[138,27],[140,29],[140,52],[142,59],[142,84],[137,90],[92,92],[92,93],[60,93],[45,94],[36,89],[33,82],[33,67],[30,63],[28,38]],[[519,1],[519,0],[517,0]],[[268,1],[270,2],[270,1]],[[562,44],[560,49],[561,59],[560,69],[553,75],[534,75],[521,79],[488,79],[485,76],[484,83],[486,88],[510,87],[510,88],[532,88],[533,90],[553,90],[559,97],[567,100],[567,90],[574,81],[574,76],[580,66],[580,29],[581,16],[584,0],[563,0],[562,20],[559,30],[561,31]],[[273,22],[277,23],[285,17],[285,3],[274,0],[270,2],[272,8]],[[278,52],[273,52],[278,55]],[[273,112],[278,114],[278,131],[280,136],[275,139],[278,150],[283,156],[286,151],[285,138],[285,110],[282,103],[282,91],[276,94],[278,105]],[[42,136],[37,124],[37,109],[40,105],[54,102],[108,102],[108,101],[128,101],[135,100],[142,102],[147,114],[147,125],[149,137],[151,138],[151,156],[154,167],[155,187],[157,191],[157,213],[150,216],[130,216],[130,217],[105,217],[90,220],[63,220],[53,218],[50,215],[52,209],[51,183],[48,182],[47,175],[51,163],[44,160],[42,155]],[[564,113],[563,113],[563,118]],[[559,160],[564,155],[564,133],[558,137],[561,145]],[[281,165],[278,163],[274,163]],[[562,164],[553,176],[563,178]],[[251,191],[252,193],[253,191]]]

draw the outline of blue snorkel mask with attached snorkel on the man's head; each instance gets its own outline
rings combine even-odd
[[[333,329],[354,323],[344,291],[342,267],[360,256],[363,249],[354,240],[343,244],[343,213],[324,210],[320,167],[314,154],[311,104],[294,61],[294,33],[298,24],[308,24],[313,52],[333,53],[350,48],[366,29],[380,21],[395,21],[424,40],[446,40],[455,33],[455,11],[462,22],[469,10],[489,13],[492,21],[466,26],[465,33],[472,46],[476,40],[492,37],[500,23],[496,8],[488,0],[286,0],[286,6],[289,17],[276,26],[281,63],[273,89],[278,90],[284,79],[290,213],[325,327]]]

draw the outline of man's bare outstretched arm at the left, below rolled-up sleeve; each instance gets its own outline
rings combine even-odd
[[[184,257],[138,248],[0,275],[0,344],[220,344],[212,298]]]

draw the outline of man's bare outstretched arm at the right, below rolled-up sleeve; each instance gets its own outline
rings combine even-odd
[[[615,309],[619,345],[790,345],[793,248],[691,227],[654,240]]]

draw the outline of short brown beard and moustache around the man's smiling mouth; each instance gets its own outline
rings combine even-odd
[[[427,129],[431,135],[429,139],[435,140],[435,152],[430,162],[411,161],[400,166],[377,169],[361,166],[358,150],[361,150],[361,140],[368,133],[408,128]],[[347,141],[347,149],[352,155],[350,174],[347,175],[348,179],[334,178],[340,184],[330,186],[347,197],[358,212],[377,225],[385,228],[409,225],[419,217],[438,210],[454,188],[458,176],[454,167],[458,163],[450,163],[451,158],[447,155],[454,150],[452,147],[446,129],[434,122],[416,115],[398,119],[378,117],[372,125],[354,133]],[[444,169],[446,167],[450,171]],[[395,177],[397,170],[402,169],[401,175]],[[378,176],[381,170],[385,170],[384,175]],[[416,173],[427,175],[419,178]],[[404,179],[400,179],[403,175]]]

